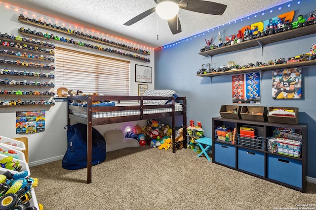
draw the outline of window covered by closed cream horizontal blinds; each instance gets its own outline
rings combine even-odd
[[[79,51],[55,48],[56,90],[81,90],[99,95],[130,94],[130,62]]]

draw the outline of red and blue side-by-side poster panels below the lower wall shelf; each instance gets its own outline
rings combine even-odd
[[[233,104],[260,104],[259,72],[232,77]]]

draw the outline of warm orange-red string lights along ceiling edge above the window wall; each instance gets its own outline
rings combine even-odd
[[[49,18],[43,18],[43,17],[40,17],[40,16],[37,16],[36,14],[32,14],[33,12],[32,11],[27,11],[27,10],[25,10],[25,9],[23,9],[23,10],[25,10],[24,12],[22,11],[22,9],[20,8],[20,9],[18,9],[18,8],[13,8],[13,6],[12,5],[8,5],[8,4],[5,4],[5,3],[3,3],[3,2],[0,2],[0,5],[3,5],[5,8],[7,8],[7,9],[13,9],[14,11],[16,11],[16,12],[20,12],[20,14],[21,13],[24,13],[25,14],[25,16],[27,16],[27,15],[30,15],[30,16],[32,16],[32,17],[34,17],[34,18],[38,18],[38,19],[40,19],[41,21],[44,21],[44,20],[48,20],[49,21],[49,23],[52,23],[52,22],[55,22],[56,24],[59,24],[59,22],[62,22],[62,21],[58,21],[58,20],[55,20],[55,21],[52,21],[51,19],[49,19]],[[62,24],[63,26],[65,26],[65,23],[63,23]],[[70,26],[70,28],[71,28],[71,26]],[[78,29],[78,27],[77,26],[75,26],[74,27],[75,29]],[[84,31],[82,28],[81,28],[81,30],[82,31]],[[87,32],[89,31],[89,29],[87,30]],[[94,31],[92,30],[92,32],[94,33]],[[101,33],[101,32],[100,32]],[[99,32],[97,31],[97,34],[99,34]],[[103,33],[102,32],[102,36],[104,36],[104,35],[106,35],[106,36],[111,36],[112,38],[114,37],[113,35],[109,35],[109,34],[107,34],[107,33]],[[117,39],[117,40],[121,40],[122,38],[120,38],[120,37],[115,37],[115,39]],[[153,48],[153,47],[149,47],[149,46],[145,46],[145,45],[143,45],[143,44],[138,44],[138,43],[134,43],[134,42],[131,42],[130,41],[130,44],[132,44],[132,45],[134,45],[134,46],[136,46],[136,45],[138,45],[138,46],[143,46],[144,48],[147,48],[147,49],[150,49],[150,50],[154,50],[155,48]]]

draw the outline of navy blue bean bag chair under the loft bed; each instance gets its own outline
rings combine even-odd
[[[68,129],[67,129],[67,128]],[[75,170],[87,167],[87,125],[77,123],[66,125],[68,148],[62,160],[64,169]],[[106,142],[104,137],[92,127],[92,165],[106,159]]]

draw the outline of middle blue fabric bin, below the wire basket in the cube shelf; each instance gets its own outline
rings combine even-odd
[[[264,177],[264,152],[238,148],[238,169]]]

